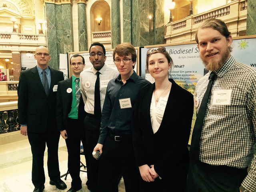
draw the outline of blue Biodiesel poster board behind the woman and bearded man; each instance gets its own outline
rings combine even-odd
[[[231,44],[231,55],[236,61],[256,68],[256,54],[254,50],[255,45],[255,35],[233,38],[233,42]],[[200,59],[199,50],[197,48],[196,42],[189,42],[184,44],[162,44],[145,46],[144,48],[141,48],[141,76],[150,80],[151,82],[154,82],[154,79],[152,78],[152,76],[150,76],[149,73],[145,72],[146,52],[149,48],[156,48],[158,46],[164,46],[174,62],[174,66],[170,71],[171,77],[179,86],[188,90],[194,95],[198,80],[208,72],[208,70],[206,70],[204,64],[202,63],[202,60]],[[196,110],[194,108],[194,115],[191,126],[192,128],[194,127],[195,119]]]

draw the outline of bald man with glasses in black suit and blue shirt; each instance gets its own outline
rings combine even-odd
[[[56,124],[57,84],[64,80],[63,72],[48,66],[51,59],[48,48],[39,46],[34,55],[37,66],[20,73],[18,86],[18,116],[20,133],[28,136],[32,151],[32,182],[34,192],[44,190],[44,151],[48,148],[48,175],[50,184],[65,189],[60,179],[58,143],[60,132]]]

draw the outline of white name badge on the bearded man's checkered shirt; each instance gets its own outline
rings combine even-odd
[[[217,90],[213,92],[213,105],[230,105],[232,90]]]

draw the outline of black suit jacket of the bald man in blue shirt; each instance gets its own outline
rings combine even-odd
[[[50,68],[50,67],[49,67]],[[63,72],[50,68],[51,84],[47,96],[37,67],[20,73],[18,85],[18,117],[20,124],[27,124],[28,132],[46,131],[48,125],[56,128],[56,94],[53,91],[59,81],[64,80]]]

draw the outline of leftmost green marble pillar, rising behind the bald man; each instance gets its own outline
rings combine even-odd
[[[47,44],[51,55],[49,66],[59,69],[60,54],[72,52],[72,5],[46,3]]]

